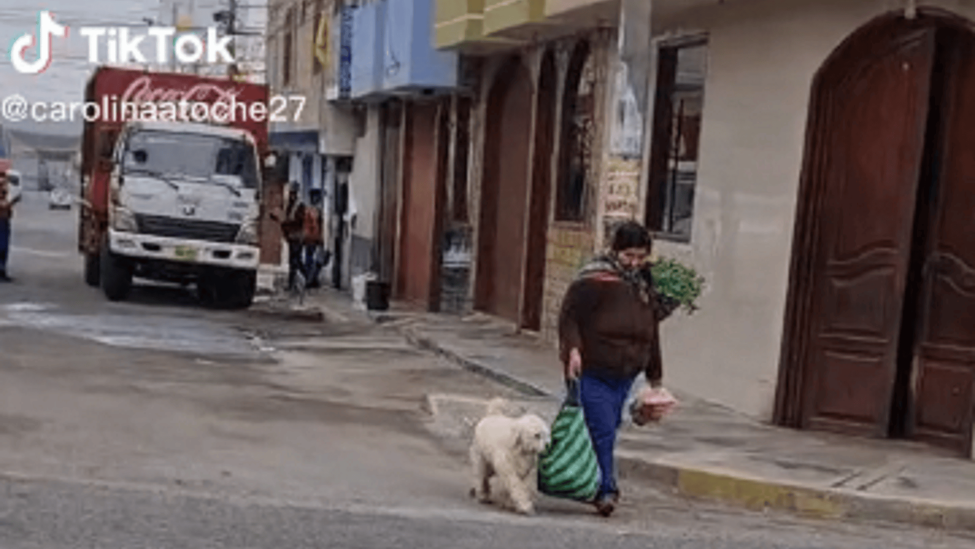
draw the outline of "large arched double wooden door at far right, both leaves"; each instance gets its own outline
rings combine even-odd
[[[776,420],[970,456],[973,236],[975,34],[878,18],[813,85]]]

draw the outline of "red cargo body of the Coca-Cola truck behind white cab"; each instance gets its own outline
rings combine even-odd
[[[125,103],[144,106],[145,103],[160,105],[185,100],[214,104],[217,101],[229,103],[231,98],[238,104],[247,105],[249,110],[255,103],[264,105],[264,115],[257,117],[258,120],[254,120],[250,112],[248,116],[240,116],[238,111],[238,116],[229,118],[226,123],[227,126],[250,131],[257,145],[257,152],[260,158],[263,158],[268,152],[267,86],[194,74],[149,72],[115,67],[99,67],[95,71],[86,87],[85,101],[97,103],[101,112],[98,120],[94,122],[86,120],[83,133],[81,177],[84,203],[79,220],[81,224],[78,238],[79,251],[97,252],[100,237],[106,228],[109,178],[112,170],[111,156],[115,141],[125,122],[137,120],[133,116],[132,109],[124,108]],[[136,114],[136,116],[144,115]],[[267,195],[265,193],[263,196]],[[264,250],[262,255],[265,255]]]

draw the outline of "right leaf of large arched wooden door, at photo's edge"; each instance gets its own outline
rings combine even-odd
[[[920,265],[914,436],[969,456],[975,384],[975,38],[942,31],[946,75]],[[924,181],[922,180],[922,184]]]

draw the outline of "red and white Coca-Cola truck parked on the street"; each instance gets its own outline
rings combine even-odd
[[[135,91],[134,91],[135,90]],[[267,101],[265,86],[101,67],[86,99]],[[260,261],[265,122],[86,123],[78,247],[85,280],[111,301],[134,277],[195,283],[206,302],[246,308]]]

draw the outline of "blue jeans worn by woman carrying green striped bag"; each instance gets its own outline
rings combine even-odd
[[[596,458],[600,463],[603,476],[600,492],[604,494],[619,494],[616,487],[613,451],[616,448],[616,431],[623,418],[623,405],[630,394],[634,378],[622,380],[604,379],[583,373],[579,380],[582,413],[589,427],[589,436],[593,439]]]

